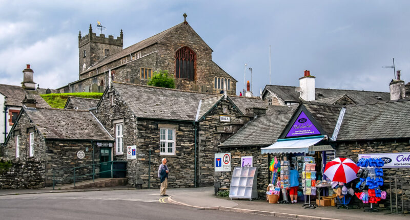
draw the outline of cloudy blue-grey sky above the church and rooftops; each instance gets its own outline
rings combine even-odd
[[[410,1],[4,1],[0,0],[0,83],[34,81],[56,89],[78,80],[78,31],[97,20],[103,34],[124,32],[124,48],[187,21],[212,59],[258,96],[266,84],[299,86],[304,70],[316,87],[388,92],[410,81]],[[84,36],[84,34],[83,34]],[[271,81],[269,77],[271,46]],[[248,64],[245,69],[245,63]],[[251,72],[248,68],[252,68]]]

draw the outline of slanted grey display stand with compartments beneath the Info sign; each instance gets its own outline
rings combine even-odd
[[[258,197],[256,179],[257,167],[235,167],[229,189],[229,197],[252,200]]]

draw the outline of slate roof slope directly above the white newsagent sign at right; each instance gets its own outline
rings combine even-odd
[[[346,107],[336,140],[409,138],[409,109],[410,99]]]

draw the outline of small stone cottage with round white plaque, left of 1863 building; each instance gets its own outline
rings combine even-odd
[[[69,183],[73,173],[64,168],[98,163],[111,149],[114,139],[91,112],[40,108],[30,98],[26,97],[7,136],[3,157],[11,160],[14,168],[0,176],[3,181],[0,185],[9,188],[50,186],[54,172],[58,184]],[[101,143],[101,147],[97,143]],[[78,156],[80,151],[83,155]],[[97,172],[102,169],[96,167]],[[92,167],[85,167],[78,169],[76,175],[90,173]],[[30,181],[30,177],[35,181]]]

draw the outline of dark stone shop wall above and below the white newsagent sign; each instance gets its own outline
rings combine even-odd
[[[409,139],[391,139],[391,140],[373,140],[373,141],[345,141],[338,142],[336,145],[336,156],[351,158],[357,161],[359,154],[363,153],[397,153],[397,152],[410,152],[410,140]],[[398,181],[403,183],[403,200],[404,210],[410,210],[410,168],[383,168],[384,176],[398,177]],[[384,179],[384,185],[382,190],[387,191],[387,199],[382,200],[380,204],[388,206],[389,200],[389,187],[388,179]],[[400,189],[400,184],[399,189]],[[394,183],[392,183],[394,188]],[[394,192],[394,191],[393,191]],[[400,194],[401,191],[398,190]],[[393,196],[395,194],[393,193]],[[399,195],[400,199],[400,195]],[[393,201],[395,198],[393,198]],[[401,206],[401,203],[399,202]],[[389,207],[389,206],[388,206]]]

